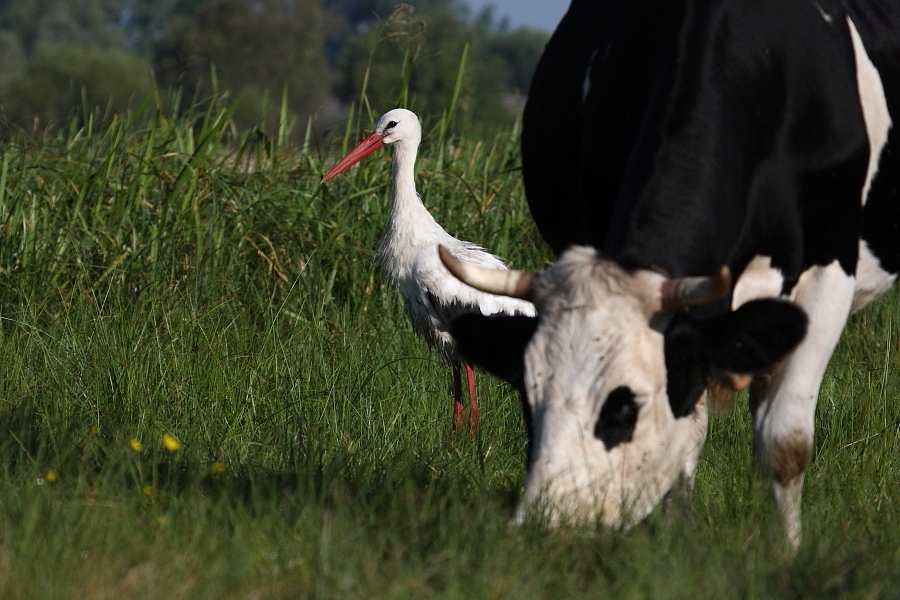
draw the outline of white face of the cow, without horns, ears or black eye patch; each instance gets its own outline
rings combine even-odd
[[[543,509],[551,523],[629,526],[692,478],[707,416],[701,402],[676,419],[668,402],[663,336],[649,326],[663,280],[588,248],[569,250],[535,280],[541,321],[525,353],[534,463],[517,521]],[[607,449],[594,427],[621,386],[640,408],[631,440]]]

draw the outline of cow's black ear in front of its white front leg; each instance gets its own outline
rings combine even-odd
[[[751,300],[733,312],[697,322],[708,364],[732,373],[773,367],[803,341],[803,309],[786,300]]]

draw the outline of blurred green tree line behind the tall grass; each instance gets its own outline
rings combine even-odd
[[[0,0],[0,106],[34,130],[153,90],[170,110],[233,94],[241,126],[277,115],[282,93],[320,126],[360,101],[439,113],[465,52],[457,110],[493,126],[521,109],[547,37],[462,0]]]

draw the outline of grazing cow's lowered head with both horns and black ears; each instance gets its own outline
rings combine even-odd
[[[721,299],[724,267],[676,280],[627,271],[584,247],[536,275],[441,257],[464,282],[527,298],[538,311],[536,321],[466,315],[453,324],[462,355],[525,397],[531,443],[518,520],[534,509],[554,523],[642,519],[693,476],[709,378],[740,388],[806,332],[803,311],[780,300],[704,320],[681,310]]]

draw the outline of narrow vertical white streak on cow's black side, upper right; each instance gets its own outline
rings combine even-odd
[[[853,41],[853,53],[856,57],[856,84],[859,88],[859,101],[862,105],[863,119],[869,136],[869,168],[866,171],[866,183],[863,186],[861,199],[865,206],[872,180],[875,179],[875,174],[878,172],[881,151],[887,144],[888,131],[891,129],[891,115],[888,112],[881,76],[869,59],[859,32],[849,18],[847,25],[850,28],[850,39]]]

